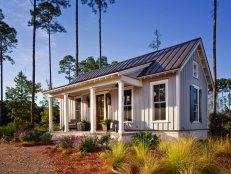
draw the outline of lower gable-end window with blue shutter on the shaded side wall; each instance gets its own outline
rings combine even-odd
[[[191,85],[190,86],[190,121],[191,122],[201,122],[200,100],[201,100],[201,90],[199,89],[199,87]]]

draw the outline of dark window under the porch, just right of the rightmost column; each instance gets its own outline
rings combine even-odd
[[[124,121],[132,121],[132,90],[124,91]]]

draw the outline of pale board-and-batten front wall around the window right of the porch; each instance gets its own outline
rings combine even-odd
[[[152,122],[150,103],[150,83],[168,80],[168,121]],[[138,130],[177,130],[176,114],[176,77],[175,75],[143,80],[143,87],[134,87],[133,129]]]

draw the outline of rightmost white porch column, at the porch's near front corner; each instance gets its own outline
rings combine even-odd
[[[119,133],[124,132],[124,82],[118,83],[118,121],[119,121]]]

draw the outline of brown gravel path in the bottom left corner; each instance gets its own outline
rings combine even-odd
[[[16,147],[0,143],[1,174],[51,174],[49,157],[41,151],[46,146]]]

